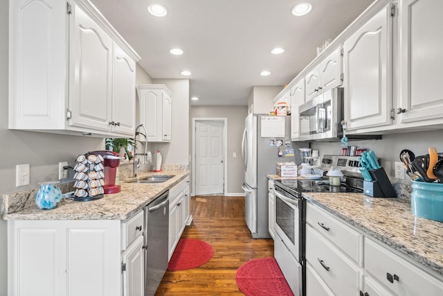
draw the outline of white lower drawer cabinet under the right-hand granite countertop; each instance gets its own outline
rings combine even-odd
[[[353,241],[359,237],[356,234],[363,243]],[[353,247],[344,247],[348,243]],[[360,260],[358,255],[355,259],[355,254],[363,258]],[[399,256],[387,245],[310,203],[306,261],[307,296],[443,295],[443,281],[419,268],[419,263]]]

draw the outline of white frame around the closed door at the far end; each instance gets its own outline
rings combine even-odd
[[[195,149],[195,128],[199,121],[214,121],[223,123],[223,150],[224,150],[224,166],[223,166],[223,195],[226,195],[228,190],[228,118],[227,117],[193,117],[192,118],[192,193],[195,195],[195,180],[196,180],[196,168],[195,160],[197,159],[197,151]]]

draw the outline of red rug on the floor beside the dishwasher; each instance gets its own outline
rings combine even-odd
[[[192,238],[182,238],[172,254],[168,270],[186,270],[196,268],[213,258],[213,247]]]

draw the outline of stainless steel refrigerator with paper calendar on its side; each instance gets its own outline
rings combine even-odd
[[[291,116],[249,114],[244,121],[244,216],[253,238],[271,238],[268,231],[268,179],[278,162],[300,164],[298,148],[309,143],[291,142]],[[293,155],[291,155],[293,149]]]

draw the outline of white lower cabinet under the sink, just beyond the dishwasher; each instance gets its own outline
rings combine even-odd
[[[174,254],[175,247],[179,243],[181,234],[189,222],[189,177],[174,186],[169,192],[169,240],[168,259]]]

